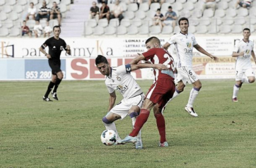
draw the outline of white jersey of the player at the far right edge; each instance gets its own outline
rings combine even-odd
[[[236,57],[236,70],[251,68],[251,52],[253,51],[253,42],[240,40],[234,46],[234,52],[245,52],[243,56]]]

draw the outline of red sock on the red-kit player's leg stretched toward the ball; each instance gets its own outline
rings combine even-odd
[[[141,109],[139,116],[137,116],[136,118],[133,131],[131,132],[131,134],[129,134],[129,136],[133,136],[133,137],[137,136],[137,134],[139,134],[139,130],[142,128],[143,124],[147,122],[149,116],[150,116],[150,111],[146,109]]]

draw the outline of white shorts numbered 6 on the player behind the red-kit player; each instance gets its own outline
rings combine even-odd
[[[191,67],[181,67],[177,68],[178,74],[177,78],[175,79],[175,84],[177,84],[179,81],[183,81],[184,85],[187,83],[195,83],[195,81],[198,81],[197,74],[193,71]]]

